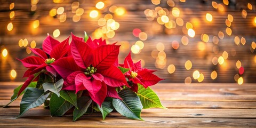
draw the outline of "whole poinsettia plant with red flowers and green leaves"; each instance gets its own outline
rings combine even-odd
[[[96,111],[105,119],[113,110],[142,120],[142,108],[165,108],[149,87],[162,79],[140,61],[134,63],[131,52],[119,64],[119,45],[92,40],[86,33],[84,39],[72,33],[71,38],[60,43],[47,36],[42,50],[30,49],[36,56],[20,60],[28,78],[11,97],[10,103],[23,94],[18,117],[43,104],[52,116],[73,110],[73,121]]]

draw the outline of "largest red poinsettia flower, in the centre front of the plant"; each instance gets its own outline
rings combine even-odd
[[[121,70],[113,65],[118,57],[119,47],[101,45],[93,49],[87,42],[72,35],[72,57],[61,58],[52,63],[60,76],[65,78],[62,89],[76,92],[87,90],[98,105],[106,97],[119,98],[115,87],[127,85]]]

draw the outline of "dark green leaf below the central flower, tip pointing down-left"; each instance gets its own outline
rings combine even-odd
[[[73,111],[73,121],[76,121],[76,119],[78,119],[79,117],[83,116],[87,109],[89,108],[89,106],[92,103],[92,99],[90,97],[80,97],[77,99],[77,105],[78,105],[78,109],[75,108]]]

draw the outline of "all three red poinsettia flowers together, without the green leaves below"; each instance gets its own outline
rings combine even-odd
[[[141,62],[133,63],[131,52],[123,64],[118,63],[119,45],[106,44],[100,39],[90,37],[84,41],[71,34],[63,42],[47,36],[43,42],[43,50],[31,49],[37,55],[20,60],[28,68],[23,77],[28,77],[18,92],[18,96],[32,82],[37,81],[39,73],[46,70],[57,79],[64,79],[61,90],[86,90],[91,99],[101,106],[106,97],[118,98],[116,88],[127,86],[134,92],[138,84],[147,88],[162,79],[153,74],[155,70],[141,67]],[[121,71],[129,69],[124,74]]]

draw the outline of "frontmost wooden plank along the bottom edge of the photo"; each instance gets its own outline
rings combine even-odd
[[[136,121],[124,117],[106,118],[82,117],[72,122],[72,117],[37,117],[15,119],[0,118],[1,127],[255,127],[256,119],[233,118],[155,118],[145,117]]]

